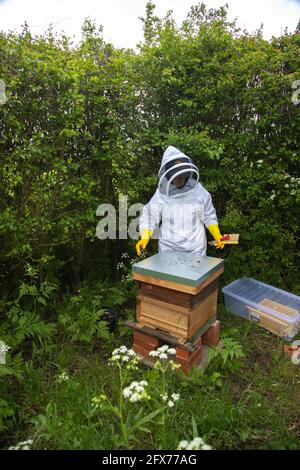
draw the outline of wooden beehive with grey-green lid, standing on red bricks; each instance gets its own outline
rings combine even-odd
[[[218,258],[177,251],[160,252],[135,263],[138,322],[191,338],[216,315],[223,265]]]

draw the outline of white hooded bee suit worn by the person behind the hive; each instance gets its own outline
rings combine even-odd
[[[168,169],[167,164],[177,160],[184,163],[174,164]],[[180,174],[188,179],[182,188],[177,188],[172,180]],[[140,233],[149,229],[156,238],[158,227],[159,251],[206,255],[205,226],[217,224],[218,219],[211,195],[198,182],[198,168],[187,155],[170,146],[163,154],[158,178],[158,188],[140,217]]]

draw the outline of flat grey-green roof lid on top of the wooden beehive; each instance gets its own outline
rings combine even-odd
[[[132,266],[133,273],[196,287],[224,266],[224,260],[181,251],[162,251]]]

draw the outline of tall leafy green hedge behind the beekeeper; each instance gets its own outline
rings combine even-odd
[[[97,206],[120,194],[146,203],[168,144],[199,166],[221,230],[241,235],[222,255],[224,282],[299,291],[299,28],[266,41],[203,3],[178,26],[148,2],[142,23],[136,51],[105,43],[88,19],[78,45],[26,24],[0,33],[2,319],[24,310],[28,269],[37,292],[58,296],[115,279],[134,241],[97,239]]]

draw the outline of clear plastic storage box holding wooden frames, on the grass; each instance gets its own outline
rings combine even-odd
[[[253,321],[286,340],[300,328],[300,297],[251,278],[222,289],[225,306],[234,315]]]

